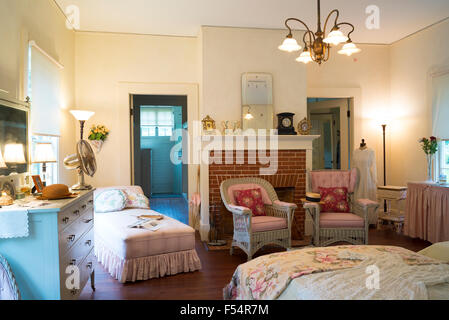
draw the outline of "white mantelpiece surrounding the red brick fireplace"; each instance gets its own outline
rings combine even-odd
[[[312,170],[313,140],[319,135],[308,136],[219,136],[204,135],[198,137],[201,141],[201,225],[200,234],[207,241],[209,234],[209,151],[239,151],[259,150],[259,147],[270,150],[306,150],[306,170]],[[198,140],[197,140],[198,141]],[[308,182],[306,181],[308,186]],[[311,232],[311,226],[306,221],[306,234]]]

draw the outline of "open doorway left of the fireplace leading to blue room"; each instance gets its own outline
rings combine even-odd
[[[132,124],[134,184],[152,199],[186,199],[187,96],[133,95]]]

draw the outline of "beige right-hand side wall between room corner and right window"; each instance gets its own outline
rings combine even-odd
[[[391,183],[426,179],[417,141],[432,134],[430,74],[449,67],[448,34],[446,20],[391,46]]]

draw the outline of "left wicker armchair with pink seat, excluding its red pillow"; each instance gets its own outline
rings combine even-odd
[[[260,188],[265,203],[266,216],[256,217],[250,209],[239,207],[234,201],[235,190]],[[221,198],[226,209],[232,212],[234,219],[234,246],[248,255],[248,261],[257,250],[267,244],[291,247],[292,219],[297,206],[279,201],[273,186],[260,178],[237,178],[225,180],[220,186]]]

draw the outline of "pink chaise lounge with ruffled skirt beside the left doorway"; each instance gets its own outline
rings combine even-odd
[[[102,188],[131,190],[143,194],[139,186]],[[195,251],[195,230],[164,216],[157,231],[129,228],[142,214],[157,214],[151,209],[124,209],[95,212],[95,255],[104,268],[121,283],[148,280],[201,269]]]

